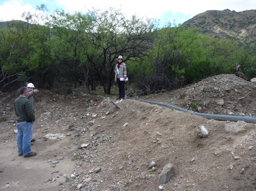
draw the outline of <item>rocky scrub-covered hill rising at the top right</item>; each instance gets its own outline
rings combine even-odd
[[[183,25],[197,27],[202,34],[235,40],[256,54],[256,10],[209,10],[189,19]]]

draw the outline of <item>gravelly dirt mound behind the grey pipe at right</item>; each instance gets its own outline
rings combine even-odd
[[[256,86],[234,74],[213,76],[146,99],[203,113],[248,117],[256,114]]]

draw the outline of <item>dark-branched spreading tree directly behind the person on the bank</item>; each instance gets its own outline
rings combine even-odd
[[[118,55],[123,55],[124,62],[150,55],[153,20],[142,21],[135,16],[125,19],[120,10],[113,8],[104,12],[91,11],[89,17],[87,62],[98,74],[104,92],[109,94]]]

